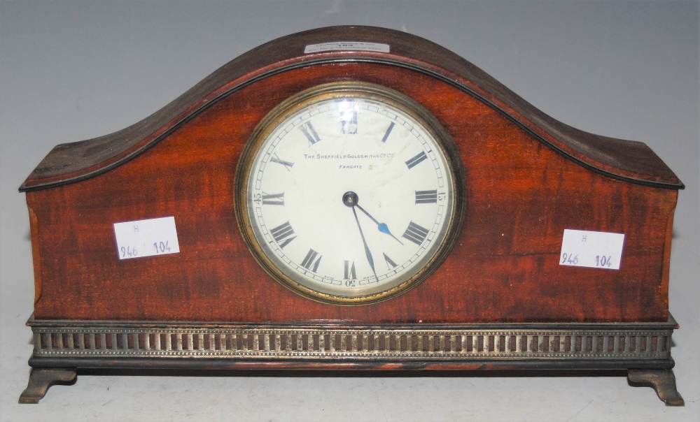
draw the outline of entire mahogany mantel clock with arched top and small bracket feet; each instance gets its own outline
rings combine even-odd
[[[80,368],[544,368],[627,370],[682,405],[682,187],[422,38],[279,38],[22,184],[20,402]]]

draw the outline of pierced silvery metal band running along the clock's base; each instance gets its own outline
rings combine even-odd
[[[665,360],[671,358],[674,327],[670,324],[657,324],[658,328],[654,324],[571,324],[570,329],[567,324],[550,324],[557,325],[555,329],[542,328],[543,324],[510,324],[493,329],[494,324],[341,328],[30,320],[38,358],[276,361]]]

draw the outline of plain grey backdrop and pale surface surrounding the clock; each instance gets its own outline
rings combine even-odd
[[[694,1],[27,1],[0,3],[2,421],[697,420],[699,4]],[[226,61],[335,24],[423,36],[579,129],[640,140],[687,189],[673,228],[678,389],[624,377],[103,377],[25,388],[33,275],[17,188],[50,148],[122,129]]]

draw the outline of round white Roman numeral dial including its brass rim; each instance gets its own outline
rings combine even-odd
[[[386,300],[423,281],[460,221],[454,144],[418,103],[330,84],[273,110],[237,174],[239,225],[267,272],[325,303]]]

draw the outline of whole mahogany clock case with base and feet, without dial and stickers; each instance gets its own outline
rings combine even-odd
[[[338,41],[389,50],[304,52]],[[414,289],[361,306],[274,282],[234,204],[241,151],[260,121],[290,96],[342,81],[419,103],[449,132],[465,173],[461,233],[444,263]],[[45,392],[73,368],[144,365],[612,368],[678,405],[668,283],[682,187],[646,145],[556,122],[422,38],[372,27],[280,38],[139,124],[58,145],[22,184],[36,290],[30,365],[44,368],[34,381]],[[175,217],[178,254],[118,259],[113,224],[165,216]],[[571,228],[624,233],[619,270],[560,265]]]

